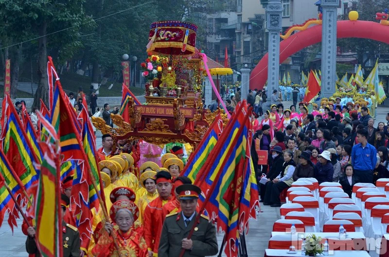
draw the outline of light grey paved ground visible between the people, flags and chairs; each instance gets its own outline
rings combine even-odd
[[[290,106],[291,102],[284,102],[285,106]],[[377,119],[375,124],[379,121],[385,121],[386,113],[389,112],[389,107],[379,107],[377,109]],[[101,147],[101,133],[97,132],[97,146]],[[269,206],[261,205],[261,212],[259,213],[257,221],[251,220],[249,222],[249,232],[246,236],[247,249],[249,257],[263,257],[265,249],[270,238],[273,223],[280,219],[280,208],[271,208]],[[21,220],[18,220],[18,228],[15,228],[12,233],[7,224],[7,217],[4,218],[3,224],[0,227],[0,257],[26,257],[25,239],[22,234]],[[219,248],[223,235],[218,236]],[[226,255],[222,255],[226,256]]]

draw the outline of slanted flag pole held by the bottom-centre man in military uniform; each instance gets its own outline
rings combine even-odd
[[[252,112],[252,107],[248,108],[248,112],[246,113],[245,119],[243,120],[243,124],[245,124],[245,123],[247,122],[248,118],[251,116],[251,112]],[[245,127],[245,126],[240,126],[240,128],[239,128],[239,130],[238,130],[238,132],[237,132],[238,135],[242,133],[244,127]],[[238,138],[239,138],[239,137],[236,136],[236,137],[234,138],[234,140],[231,142],[231,145],[236,145],[236,142],[238,141]],[[233,147],[231,147],[231,148],[229,149],[229,152],[227,153],[227,156],[229,156],[229,155],[231,154],[232,149],[233,149]],[[225,160],[223,161],[223,163],[222,163],[221,166],[224,167],[224,166],[226,165],[226,162],[227,162],[227,159],[225,159]],[[217,181],[217,180],[219,179],[220,175],[221,175],[221,172],[218,172],[217,175],[216,175],[216,177],[215,177],[215,179],[213,180],[212,187],[211,187],[211,189],[208,191],[208,195],[207,195],[207,197],[205,198],[205,201],[203,202],[203,204],[202,204],[202,206],[201,206],[201,209],[200,209],[199,212],[198,212],[198,215],[196,215],[195,222],[194,222],[194,224],[193,224],[191,230],[189,231],[189,234],[188,234],[187,239],[191,239],[191,237],[192,237],[192,235],[193,235],[193,232],[195,232],[195,227],[200,223],[200,217],[201,217],[200,213],[202,213],[202,212],[205,210],[205,206],[206,206],[206,205],[208,204],[208,202],[210,201],[211,195],[212,195],[213,191],[214,191],[215,188],[216,188],[216,184],[217,184],[217,183],[215,183],[215,181]],[[204,181],[204,180],[203,180],[203,181]],[[186,249],[181,249],[181,252],[180,252],[179,257],[183,257],[184,254],[185,254],[185,251],[186,251]]]

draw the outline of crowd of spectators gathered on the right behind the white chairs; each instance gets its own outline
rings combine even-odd
[[[323,98],[320,108],[303,102],[285,108],[278,102],[264,112],[261,121],[253,114],[253,140],[260,140],[257,150],[265,150],[268,158],[266,165],[259,165],[252,148],[264,205],[280,207],[282,191],[301,177],[314,177],[319,184],[339,182],[350,197],[355,183],[389,178],[389,113],[385,123],[376,123],[375,107],[371,110],[365,101],[369,95],[355,102],[341,96]],[[275,90],[272,98],[280,101],[281,96]]]

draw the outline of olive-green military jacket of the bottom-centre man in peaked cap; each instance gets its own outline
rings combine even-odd
[[[182,249],[181,241],[188,237],[197,215],[196,213],[187,227],[181,212],[166,216],[159,241],[158,257],[179,256]],[[216,229],[209,222],[208,217],[201,215],[199,224],[195,226],[191,239],[193,247],[191,250],[185,251],[184,257],[213,256],[217,254]]]

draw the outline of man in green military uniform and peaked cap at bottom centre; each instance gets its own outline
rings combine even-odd
[[[195,225],[199,187],[184,184],[176,188],[182,211],[166,216],[159,241],[158,257],[177,257],[185,249],[184,257],[213,256],[218,252],[215,226],[201,215]],[[195,231],[188,234],[195,225]]]

